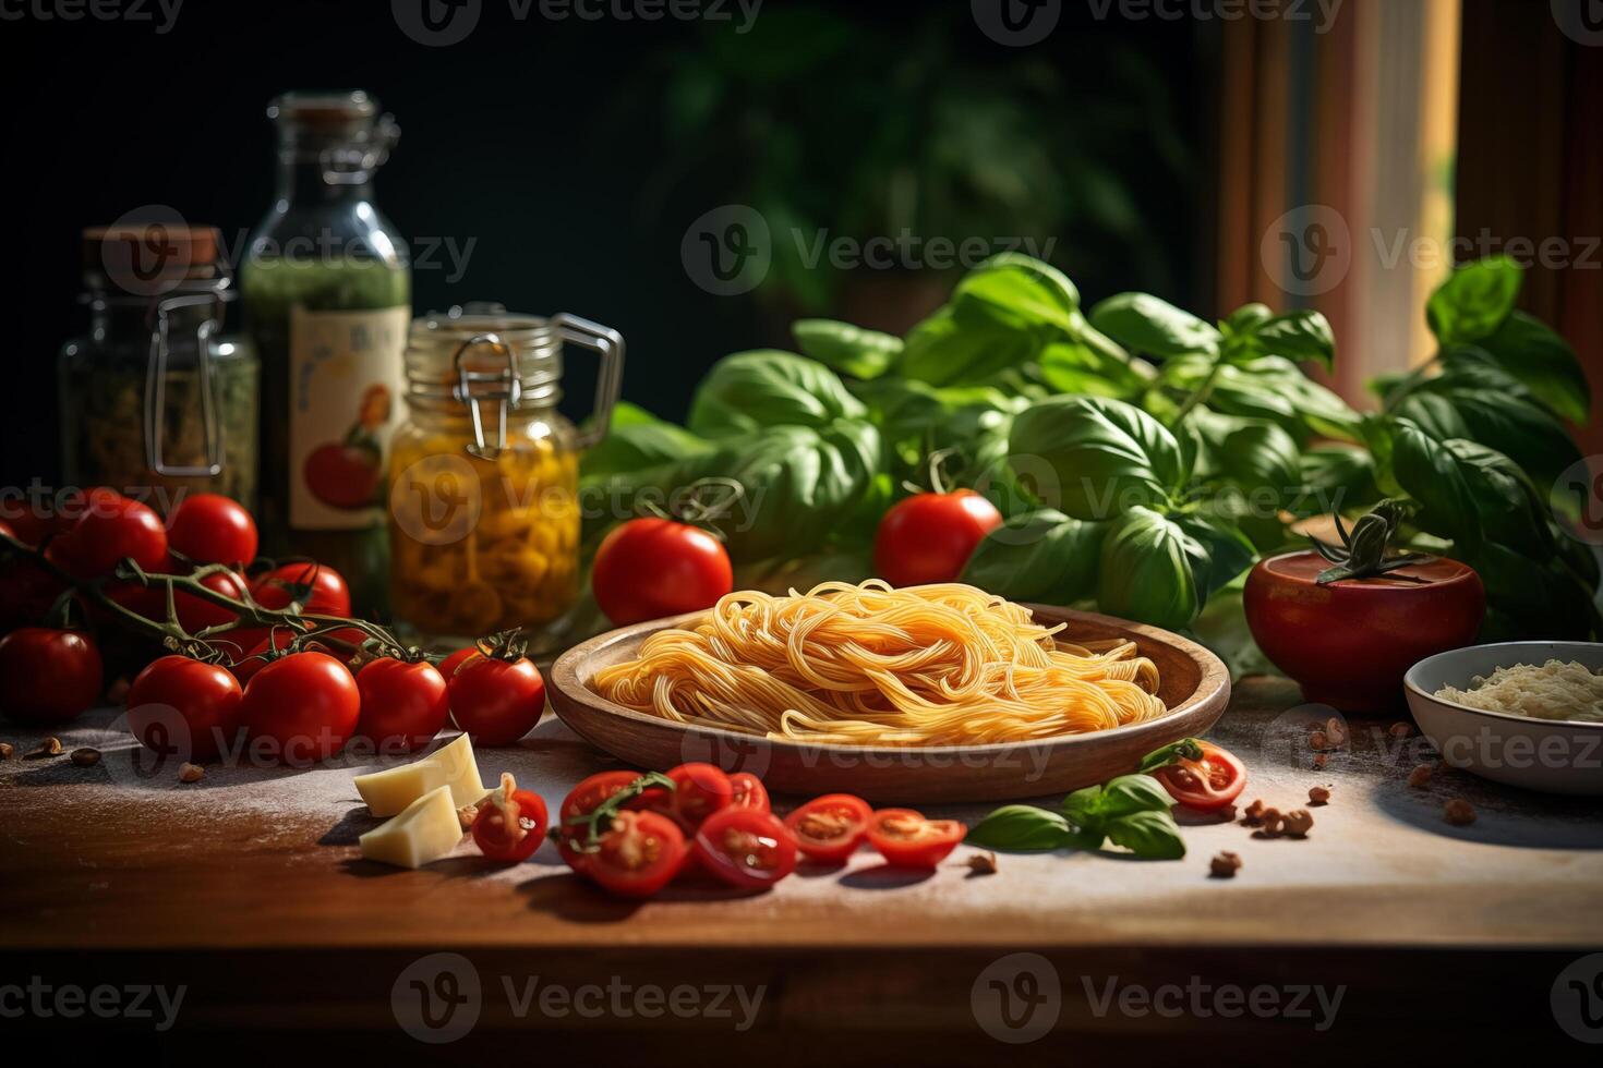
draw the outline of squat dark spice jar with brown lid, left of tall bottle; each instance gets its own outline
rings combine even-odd
[[[189,492],[255,508],[260,367],[221,336],[237,290],[220,245],[181,221],[83,231],[90,328],[58,362],[69,484],[162,511]]]

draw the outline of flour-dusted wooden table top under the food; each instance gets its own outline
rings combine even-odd
[[[239,953],[277,954],[314,961],[297,966],[313,975],[370,970],[372,1004],[388,1004],[396,969],[433,951],[537,959],[574,975],[707,961],[742,974],[769,969],[790,998],[785,1012],[802,1020],[835,1004],[808,993],[806,977],[838,983],[845,958],[856,962],[853,975],[878,977],[880,994],[886,983],[912,996],[931,982],[962,993],[999,954],[1028,950],[1069,967],[1162,975],[1204,961],[1250,972],[1279,954],[1404,996],[1419,969],[1443,967],[1441,954],[1537,954],[1532,982],[1542,983],[1563,961],[1603,948],[1595,799],[1526,794],[1451,770],[1411,788],[1404,780],[1428,748],[1419,737],[1393,738],[1393,719],[1351,721],[1350,748],[1314,770],[1306,725],[1318,714],[1284,679],[1249,679],[1210,735],[1246,761],[1244,801],[1303,807],[1310,786],[1329,786],[1302,841],[1194,821],[1178,861],[1003,853],[989,876],[968,871],[968,847],[927,876],[883,868],[864,850],[845,868],[803,869],[766,893],[672,887],[646,903],[606,897],[550,845],[515,868],[487,865],[471,844],[420,871],[364,861],[356,836],[377,821],[349,767],[218,769],[184,786],[172,775],[139,780],[115,757],[112,713],[58,732],[69,753],[104,749],[96,767],[22,759],[40,732],[5,729],[0,740],[18,756],[0,764],[0,964],[91,953],[231,975]],[[555,810],[572,783],[612,762],[548,717],[516,748],[479,751],[479,765],[486,783],[513,770]],[[1449,797],[1470,801],[1478,820],[1449,826]],[[930,813],[973,821],[987,809]],[[1210,879],[1209,858],[1226,849],[1242,857],[1241,873]],[[1420,954],[1419,969],[1398,966],[1398,953]],[[1486,958],[1480,967],[1507,978],[1512,966]],[[297,980],[297,990],[306,982],[319,980]],[[255,991],[252,1018],[266,1012],[261,1001],[284,996],[282,985],[242,990]],[[237,998],[207,1018],[223,1026],[229,1012],[247,1012]],[[314,1012],[297,1004],[293,1012]],[[340,1004],[349,1022],[357,1010]]]

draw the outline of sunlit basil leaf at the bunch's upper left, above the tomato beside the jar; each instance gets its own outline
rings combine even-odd
[[[793,352],[758,349],[718,360],[696,389],[689,428],[705,437],[774,426],[822,428],[867,415],[835,371]]]

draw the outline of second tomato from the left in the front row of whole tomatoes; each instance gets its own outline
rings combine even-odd
[[[152,660],[128,687],[128,730],[146,749],[215,761],[239,733],[239,682],[188,656]]]

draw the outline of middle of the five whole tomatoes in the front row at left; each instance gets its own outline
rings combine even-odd
[[[252,756],[311,764],[345,748],[361,708],[361,692],[345,664],[327,653],[290,653],[250,679],[239,719]]]

